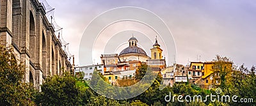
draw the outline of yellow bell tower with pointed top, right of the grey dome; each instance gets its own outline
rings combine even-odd
[[[150,50],[151,50],[151,59],[162,59],[163,50],[160,48],[160,45],[157,43],[157,37],[156,37],[156,43],[153,45],[153,48]]]

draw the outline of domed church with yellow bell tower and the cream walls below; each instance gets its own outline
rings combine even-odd
[[[137,46],[138,40],[134,36],[128,42],[129,47],[122,50],[120,54],[102,54],[100,56],[104,65],[103,75],[109,79],[109,82],[115,82],[118,79],[132,79],[141,64],[148,64],[153,71],[157,72],[166,68],[166,61],[162,56],[163,50],[157,40],[150,49],[150,56]]]

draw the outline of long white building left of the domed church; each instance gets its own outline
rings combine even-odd
[[[88,65],[88,66],[76,66],[75,73],[83,72],[84,73],[84,80],[91,80],[93,71],[97,70],[99,73],[104,72],[104,65],[97,64],[97,65]]]

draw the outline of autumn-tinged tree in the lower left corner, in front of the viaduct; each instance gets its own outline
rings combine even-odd
[[[22,83],[24,66],[18,64],[12,48],[0,45],[0,105],[35,105],[36,90]]]

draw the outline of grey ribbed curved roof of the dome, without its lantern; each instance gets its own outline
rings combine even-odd
[[[119,55],[122,55],[122,54],[132,54],[132,53],[144,54],[144,55],[147,56],[147,53],[143,49],[141,49],[140,47],[137,47],[137,46],[129,46],[126,49],[122,50],[122,52],[120,52]]]

